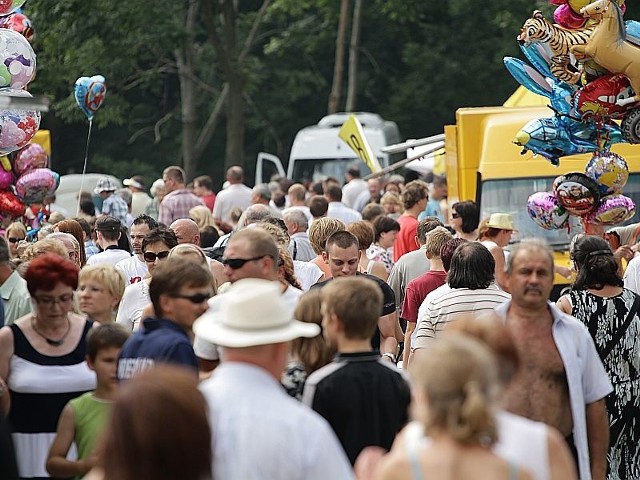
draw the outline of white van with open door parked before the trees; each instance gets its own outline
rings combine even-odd
[[[352,114],[327,115],[317,125],[300,130],[291,146],[286,173],[277,156],[260,152],[256,163],[256,184],[268,182],[274,174],[286,176],[294,182],[320,181],[327,177],[342,181],[347,168],[352,164],[360,167],[363,177],[371,173],[364,162],[338,137],[342,124],[350,115]],[[398,126],[395,122],[384,120],[377,113],[358,112],[353,115],[360,121],[380,166],[388,167],[392,163],[392,156],[383,153],[381,149],[400,142]]]

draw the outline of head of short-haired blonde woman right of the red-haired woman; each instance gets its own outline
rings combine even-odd
[[[124,275],[113,265],[84,267],[78,277],[80,311],[98,323],[115,322],[124,287]]]

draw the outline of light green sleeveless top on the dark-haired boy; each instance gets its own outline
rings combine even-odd
[[[78,447],[78,458],[88,457],[94,450],[100,434],[109,419],[113,402],[100,400],[87,392],[69,402],[73,409],[76,434],[74,441]]]

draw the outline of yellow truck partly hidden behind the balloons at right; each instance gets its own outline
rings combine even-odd
[[[513,143],[518,131],[530,120],[550,117],[547,107],[461,108],[456,124],[445,126],[445,169],[449,205],[474,200],[480,218],[495,212],[511,213],[518,232],[513,241],[542,237],[555,252],[558,265],[569,265],[570,238],[582,231],[579,219],[571,217],[568,229],[544,230],[527,213],[527,199],[535,192],[551,190],[553,180],[568,172],[584,172],[590,154],[560,159],[558,167]],[[640,145],[617,144],[612,151],[622,155],[629,166],[629,181],[623,193],[640,208]],[[637,222],[637,216],[627,223]],[[570,280],[557,275],[553,297]]]

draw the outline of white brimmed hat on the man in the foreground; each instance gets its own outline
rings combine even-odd
[[[291,318],[278,282],[245,278],[220,297],[220,309],[204,313],[193,325],[198,337],[223,347],[242,348],[315,337],[315,323]]]

